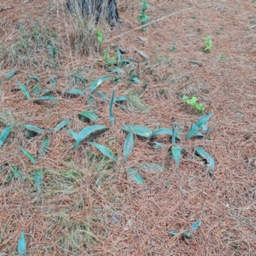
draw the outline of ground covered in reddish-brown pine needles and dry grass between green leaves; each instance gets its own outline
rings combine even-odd
[[[23,229],[27,255],[256,255],[256,43],[255,36],[249,36],[255,32],[248,29],[256,23],[255,3],[210,2],[149,1],[151,21],[200,6],[154,22],[143,33],[138,29],[112,40],[140,26],[138,3],[129,3],[126,10],[125,1],[120,1],[121,28],[109,31],[100,25],[108,41],[102,48],[84,45],[89,41],[79,36],[84,36],[87,25],[78,28],[72,23],[61,1],[0,4],[0,131],[13,122],[53,130],[61,120],[72,118],[66,128],[79,132],[86,124],[77,114],[93,108],[100,117],[96,124],[109,127],[96,141],[120,159],[117,164],[109,162],[86,141],[73,152],[74,140],[62,129],[49,135],[48,153],[33,165],[18,147],[36,156],[44,134],[29,141],[23,129],[15,126],[0,148],[0,255],[17,254]],[[204,38],[209,35],[213,49],[205,53]],[[58,54],[49,54],[49,44],[58,48]],[[149,60],[140,66],[141,84],[127,86],[126,79],[100,85],[107,99],[113,88],[115,95],[132,97],[122,105],[125,108],[115,106],[115,125],[111,126],[108,102],[103,104],[99,95],[86,104],[90,96],[65,97],[65,92],[74,86],[83,90],[83,83],[76,79],[79,76],[93,81],[108,75],[99,60],[102,49],[115,54],[116,44],[127,50],[125,58],[143,61],[136,48]],[[173,44],[177,49],[170,52]],[[221,60],[223,52],[226,55]],[[4,79],[12,70],[19,72]],[[41,85],[51,89],[60,104],[35,104],[13,90],[18,88],[16,79],[26,83],[30,74],[38,74]],[[60,77],[52,88],[47,81],[56,74]],[[149,85],[143,88],[145,83]],[[172,145],[168,137],[159,136],[158,141],[166,143],[161,149],[136,139],[123,164],[122,125],[156,129],[157,125],[170,128],[177,124],[188,131],[198,116],[180,99],[183,93],[195,95],[207,113],[214,113],[209,121],[211,140],[180,141],[188,154],[177,170],[168,159]],[[193,159],[196,145],[214,157],[212,177]],[[20,168],[22,179],[5,182],[11,172],[8,163]],[[125,170],[145,163],[160,163],[165,168],[161,172],[141,170],[145,184],[138,186]],[[42,193],[33,184],[37,169],[44,173]],[[168,234],[198,219],[202,225],[191,239]]]

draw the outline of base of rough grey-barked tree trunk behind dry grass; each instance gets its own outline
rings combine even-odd
[[[70,13],[95,19],[96,22],[106,15],[108,23],[115,27],[118,27],[120,21],[116,0],[67,0],[67,8]]]

